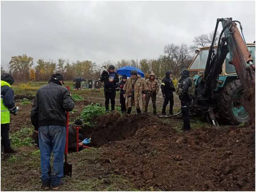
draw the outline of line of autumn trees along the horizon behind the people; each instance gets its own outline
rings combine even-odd
[[[53,73],[61,73],[65,80],[72,80],[73,77],[84,77],[91,79],[98,78],[102,66],[106,68],[113,64],[116,69],[123,66],[135,66],[145,73],[147,78],[151,72],[156,76],[163,77],[167,70],[173,71],[173,76],[179,76],[182,69],[188,68],[193,60],[194,50],[208,46],[211,43],[213,32],[202,34],[193,39],[193,45],[187,44],[166,44],[163,53],[158,58],[144,59],[121,59],[117,62],[111,60],[105,61],[102,64],[96,64],[91,60],[77,60],[70,62],[69,59],[59,58],[57,62],[53,60],[38,59],[36,64],[32,57],[26,54],[13,56],[9,62],[9,73],[18,81],[47,81]],[[215,44],[218,42],[219,33]],[[5,70],[1,67],[1,74]]]

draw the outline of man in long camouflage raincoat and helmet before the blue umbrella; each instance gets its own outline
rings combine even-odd
[[[145,80],[138,75],[136,70],[131,71],[131,78],[129,78],[124,85],[124,97],[126,97],[126,108],[129,114],[132,111],[132,106],[136,106],[137,113],[142,110],[142,97],[146,96],[148,86]]]

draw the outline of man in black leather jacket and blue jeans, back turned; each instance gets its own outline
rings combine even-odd
[[[66,111],[72,111],[75,103],[69,90],[63,87],[62,74],[51,76],[47,85],[36,93],[31,110],[31,123],[38,131],[41,153],[42,188],[58,189],[64,183],[63,156],[66,142]],[[65,84],[64,84],[65,85]],[[53,171],[50,156],[53,151]]]

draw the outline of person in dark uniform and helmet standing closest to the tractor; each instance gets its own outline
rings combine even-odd
[[[190,117],[189,117],[189,107],[192,101],[192,96],[190,95],[189,89],[193,84],[190,79],[190,73],[187,69],[180,72],[181,79],[179,80],[178,86],[178,96],[181,100],[181,113],[183,119],[183,130],[190,130]]]

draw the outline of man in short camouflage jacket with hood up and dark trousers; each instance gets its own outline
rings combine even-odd
[[[149,78],[145,81],[146,85],[148,86],[148,91],[146,92],[146,103],[145,103],[145,111],[144,113],[148,112],[148,103],[151,97],[151,101],[153,103],[153,113],[156,114],[156,95],[159,91],[159,84],[158,80],[155,79],[155,74],[151,73]]]

